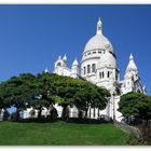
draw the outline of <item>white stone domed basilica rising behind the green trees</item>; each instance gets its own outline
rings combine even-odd
[[[82,53],[82,60],[79,64],[76,59],[71,69],[67,67],[67,56],[59,56],[55,61],[54,73],[76,79],[90,81],[98,86],[105,86],[110,91],[111,97],[105,110],[90,109],[88,118],[97,119],[100,114],[108,115],[113,120],[121,121],[122,114],[118,111],[120,96],[128,92],[146,93],[140,83],[138,69],[131,54],[129,63],[125,70],[124,80],[120,80],[120,70],[116,64],[116,55],[111,42],[102,33],[100,18],[97,23],[96,35],[86,43]],[[61,114],[61,107],[55,106],[58,115]],[[76,107],[70,108],[70,118],[78,116]]]

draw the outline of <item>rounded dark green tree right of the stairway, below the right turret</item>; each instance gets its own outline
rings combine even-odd
[[[128,93],[121,97],[119,111],[124,116],[135,116],[138,120],[151,119],[151,97],[139,93]]]

